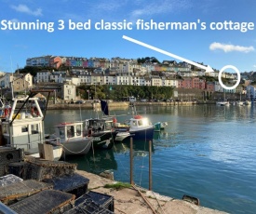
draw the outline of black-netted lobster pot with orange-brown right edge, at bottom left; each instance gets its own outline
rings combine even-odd
[[[45,190],[9,207],[19,214],[59,214],[74,207],[74,194]]]

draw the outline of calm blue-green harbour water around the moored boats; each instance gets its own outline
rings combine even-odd
[[[256,107],[143,106],[138,113],[168,127],[153,140],[153,190],[182,199],[199,198],[200,205],[230,213],[256,210]],[[118,121],[130,110],[115,110]],[[125,114],[125,115],[124,115]],[[45,127],[94,117],[88,110],[47,111]],[[93,173],[114,171],[116,181],[129,182],[128,142],[112,150],[66,159]],[[134,142],[134,181],[148,188],[148,142]]]

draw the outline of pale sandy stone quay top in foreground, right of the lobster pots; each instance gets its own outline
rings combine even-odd
[[[105,188],[106,184],[114,184],[111,181],[87,171],[77,170],[77,173],[89,179],[88,190],[101,194],[109,194],[114,197],[115,213],[171,213],[171,214],[224,214],[225,212],[197,206],[194,203],[175,199],[153,191],[145,190],[138,186],[116,189]]]

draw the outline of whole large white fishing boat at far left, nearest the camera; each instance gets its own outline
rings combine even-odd
[[[46,90],[45,92],[51,92]],[[52,148],[52,158],[59,160],[62,154],[61,145],[48,145],[45,141],[44,118],[38,104],[38,98],[33,98],[38,93],[31,91],[30,95],[14,98],[11,106],[7,105],[0,122],[0,138],[2,145],[23,149],[25,155],[42,157],[41,148]]]

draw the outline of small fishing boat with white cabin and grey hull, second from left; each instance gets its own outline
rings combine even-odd
[[[58,124],[55,126],[55,133],[49,136],[47,142],[56,143],[56,139],[60,139],[62,156],[88,154],[92,138],[84,135],[83,127],[83,122]]]

